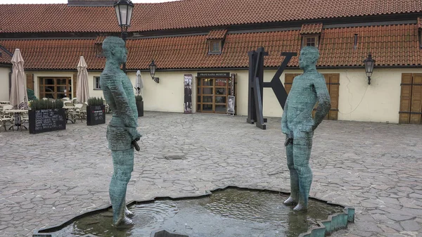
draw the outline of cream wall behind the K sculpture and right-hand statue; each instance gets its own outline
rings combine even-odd
[[[234,72],[238,75],[237,113],[248,115],[248,71]],[[340,74],[338,120],[398,123],[402,73],[422,73],[422,69],[375,68],[370,85],[364,68],[319,72]],[[270,82],[275,73],[276,70],[265,70],[264,82]],[[302,70],[285,70],[280,77],[283,84],[286,73],[302,73]],[[264,117],[283,114],[271,88],[264,88],[263,113]]]

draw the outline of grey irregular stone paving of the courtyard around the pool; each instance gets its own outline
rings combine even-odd
[[[108,116],[108,120],[110,117]],[[146,112],[127,200],[234,185],[288,191],[280,119]],[[184,160],[165,155],[184,154]],[[311,196],[356,207],[334,236],[422,237],[422,126],[324,121],[314,135]],[[31,236],[109,205],[106,124],[0,133],[0,236]],[[311,207],[312,208],[312,207]]]

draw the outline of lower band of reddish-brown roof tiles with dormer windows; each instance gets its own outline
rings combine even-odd
[[[357,34],[357,49],[354,49]],[[300,51],[300,30],[226,34],[221,55],[208,55],[207,35],[129,39],[129,70],[148,69],[154,59],[158,69],[248,68],[248,51],[264,46],[266,67],[278,67],[281,52]],[[76,70],[84,56],[90,70],[101,70],[105,58],[97,58],[96,39],[0,40],[9,51],[20,48],[25,69]],[[319,67],[363,66],[369,51],[376,65],[407,66],[422,63],[418,25],[385,25],[325,29],[321,33]],[[298,66],[298,57],[289,65]]]

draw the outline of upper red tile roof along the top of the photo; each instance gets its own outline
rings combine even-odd
[[[129,31],[421,12],[421,0],[182,0],[135,4]],[[120,32],[113,7],[10,4],[0,15],[0,32]]]

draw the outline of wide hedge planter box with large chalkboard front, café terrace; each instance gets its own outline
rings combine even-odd
[[[66,115],[61,100],[34,100],[28,110],[30,134],[66,129]]]

